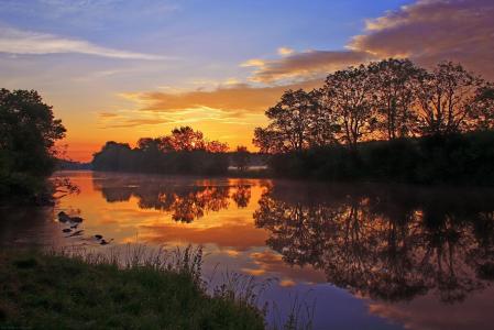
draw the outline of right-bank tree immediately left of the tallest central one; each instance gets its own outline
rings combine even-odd
[[[326,78],[322,87],[326,111],[337,116],[342,128],[341,139],[351,148],[376,127],[374,88],[363,65],[336,72]]]

